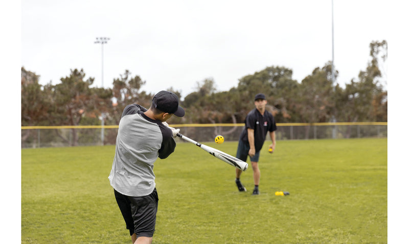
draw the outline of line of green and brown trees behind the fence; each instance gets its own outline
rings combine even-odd
[[[381,84],[385,77],[380,68],[387,61],[387,41],[373,41],[369,47],[366,70],[359,71],[345,88],[332,82],[331,62],[316,67],[301,82],[292,79],[292,69],[269,66],[240,78],[229,91],[217,91],[213,78],[196,82],[195,91],[185,97],[169,87],[186,110],[184,117],[172,117],[171,123],[243,123],[259,92],[266,95],[267,109],[278,123],[388,121],[388,91]],[[338,71],[334,74],[336,78]],[[21,67],[21,126],[101,125],[102,114],[105,125],[118,125],[126,105],[148,108],[154,95],[144,91],[146,81],[129,70],[113,79],[112,88],[92,87],[94,78],[85,80],[83,69],[71,70],[56,85],[41,85],[39,77]],[[30,133],[23,131],[21,140]],[[58,130],[56,134],[64,138]],[[71,134],[75,145],[78,132],[72,129]],[[106,140],[115,137],[108,134]]]

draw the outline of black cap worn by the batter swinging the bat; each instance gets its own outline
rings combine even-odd
[[[160,91],[153,96],[152,104],[158,110],[173,113],[178,117],[185,116],[185,110],[179,106],[179,98],[171,91]]]

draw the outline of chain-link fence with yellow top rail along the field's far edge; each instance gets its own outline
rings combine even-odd
[[[238,141],[244,124],[170,125],[199,142],[213,141],[222,135],[225,141]],[[341,139],[388,137],[387,123],[313,123],[277,124],[277,140]],[[118,126],[21,127],[21,148],[115,145]],[[177,142],[184,142],[180,138]],[[270,140],[267,135],[266,140]]]

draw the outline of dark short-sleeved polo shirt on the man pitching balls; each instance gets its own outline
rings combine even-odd
[[[256,152],[259,152],[263,147],[267,132],[277,130],[276,121],[272,114],[264,111],[264,115],[255,108],[246,116],[245,128],[240,134],[240,140],[248,144],[247,129],[254,130],[254,146]]]

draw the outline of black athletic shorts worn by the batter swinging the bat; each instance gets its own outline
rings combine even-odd
[[[136,233],[138,237],[152,237],[155,232],[157,212],[156,188],[147,196],[130,197],[113,189],[115,199],[126,223],[129,234]]]

